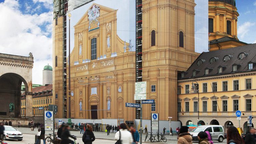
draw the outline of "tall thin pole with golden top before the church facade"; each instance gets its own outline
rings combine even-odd
[[[71,13],[68,13],[68,21],[69,21],[69,37],[68,37],[68,117],[71,118],[71,108],[70,108],[70,17],[71,17]]]

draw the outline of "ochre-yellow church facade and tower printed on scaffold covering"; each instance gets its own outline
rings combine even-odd
[[[137,7],[137,52],[129,51],[128,41],[116,33],[117,12],[96,3],[74,26],[74,49],[70,55],[71,101],[63,90],[68,83],[63,66],[63,17],[53,22],[53,94],[58,105],[56,117],[71,113],[76,119],[125,119],[133,121],[136,109],[125,107],[135,103],[135,81],[147,82],[147,99],[154,104],[143,105],[143,119],[159,113],[160,120],[177,120],[177,76],[198,57],[194,48],[194,0],[139,0]],[[89,12],[100,9],[97,20]],[[65,21],[65,18],[64,18]],[[63,37],[64,35],[64,37]],[[65,45],[65,43],[64,43]],[[141,50],[141,51],[138,51]],[[136,54],[141,57],[136,62]],[[63,63],[64,61],[64,63]],[[138,76],[136,68],[141,71]],[[65,69],[64,69],[65,71]],[[63,100],[64,99],[64,100]],[[67,101],[67,103],[65,103]]]

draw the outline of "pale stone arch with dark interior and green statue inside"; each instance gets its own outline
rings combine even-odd
[[[32,117],[33,55],[0,53],[0,117],[21,117],[21,84],[25,85],[26,117]]]

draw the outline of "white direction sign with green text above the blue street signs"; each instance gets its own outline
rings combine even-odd
[[[147,87],[147,82],[136,82],[135,83],[134,100],[145,100],[146,99],[146,87]]]

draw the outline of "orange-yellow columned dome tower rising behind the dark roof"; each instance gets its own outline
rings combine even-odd
[[[210,51],[247,45],[237,38],[235,0],[208,0]]]

